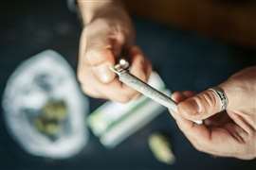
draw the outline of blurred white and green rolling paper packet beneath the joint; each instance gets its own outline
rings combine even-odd
[[[158,91],[170,95],[157,73],[151,74],[148,83]],[[141,95],[125,104],[108,101],[94,110],[87,120],[92,132],[100,138],[101,144],[114,148],[153,121],[163,110],[166,108]]]

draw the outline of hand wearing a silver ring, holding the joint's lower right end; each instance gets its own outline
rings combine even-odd
[[[194,95],[174,93],[178,103],[172,115],[192,145],[216,156],[256,158],[256,67],[247,68],[219,85],[229,99],[220,112],[219,98],[210,90]],[[192,121],[204,120],[203,125]]]

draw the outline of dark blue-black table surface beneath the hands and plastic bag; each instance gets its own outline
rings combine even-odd
[[[45,49],[60,52],[77,64],[81,26],[65,1],[4,1],[0,10],[0,95],[15,67]],[[201,91],[225,80],[232,73],[255,63],[255,52],[200,37],[193,32],[167,28],[135,18],[137,44],[154,63],[171,90]],[[91,110],[102,104],[90,98]],[[177,161],[165,165],[155,160],[147,139],[162,130],[172,137]],[[256,161],[215,158],[196,151],[165,111],[114,149],[104,148],[90,134],[82,152],[67,160],[33,157],[16,144],[0,116],[0,169],[256,169]]]

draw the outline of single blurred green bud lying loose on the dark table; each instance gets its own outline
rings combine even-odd
[[[149,137],[149,146],[155,159],[167,164],[174,164],[175,156],[169,138],[161,133],[154,133]]]

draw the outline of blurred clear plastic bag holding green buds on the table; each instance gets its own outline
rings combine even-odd
[[[18,65],[2,106],[9,133],[33,156],[67,159],[88,141],[84,123],[89,101],[73,68],[56,51],[42,51]]]

